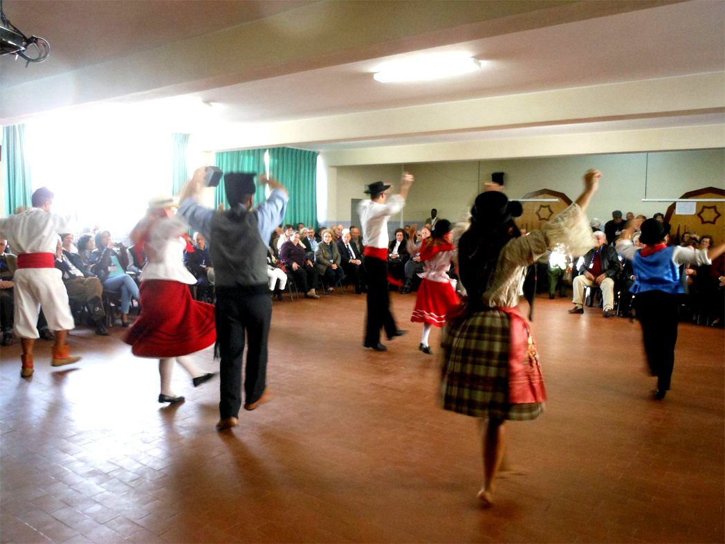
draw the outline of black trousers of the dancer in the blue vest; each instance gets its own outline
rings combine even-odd
[[[637,293],[634,308],[637,310],[637,319],[642,324],[650,371],[653,376],[657,376],[658,389],[667,391],[675,364],[679,321],[677,295],[663,291]]]

